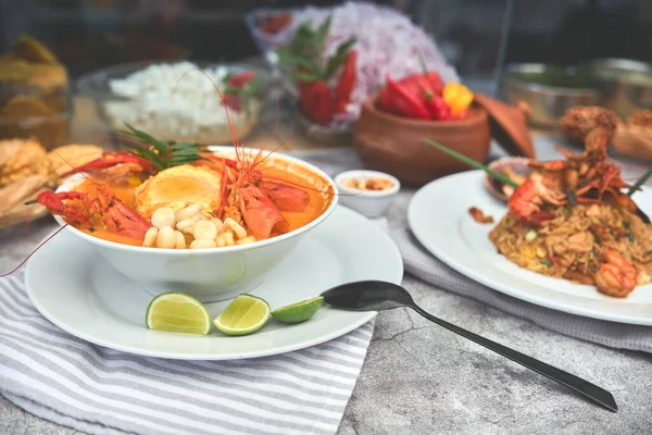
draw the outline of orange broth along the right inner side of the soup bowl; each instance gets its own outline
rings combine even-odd
[[[303,212],[281,212],[290,224],[290,232],[311,223],[322,215],[335,198],[335,190],[326,178],[300,164],[269,158],[260,166],[256,169],[263,171],[265,179],[298,187],[310,196],[310,201]]]

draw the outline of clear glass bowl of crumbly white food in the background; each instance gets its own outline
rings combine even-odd
[[[95,102],[110,129],[125,122],[178,142],[231,144],[225,105],[239,137],[259,120],[269,76],[241,65],[179,61],[110,66],[80,77],[77,88]]]

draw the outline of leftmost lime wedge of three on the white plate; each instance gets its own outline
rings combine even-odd
[[[151,300],[145,324],[150,330],[206,335],[211,332],[211,314],[192,296],[170,291]]]

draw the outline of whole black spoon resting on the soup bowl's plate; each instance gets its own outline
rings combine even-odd
[[[326,302],[334,307],[354,311],[384,311],[400,307],[412,308],[414,311],[429,321],[437,323],[439,326],[443,326],[447,330],[468,338],[478,345],[485,346],[487,349],[493,350],[552,381],[559,382],[611,411],[618,411],[618,406],[614,400],[614,396],[606,389],[600,388],[598,385],[591,384],[581,377],[577,377],[574,374],[564,372],[563,370],[434,316],[414,303],[412,296],[399,285],[381,281],[360,281],[333,287],[331,289],[324,291],[322,296]]]

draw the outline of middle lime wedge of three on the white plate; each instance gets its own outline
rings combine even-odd
[[[240,295],[213,321],[215,327],[228,335],[256,332],[269,319],[269,304],[251,295]]]

